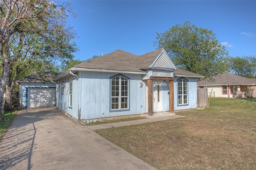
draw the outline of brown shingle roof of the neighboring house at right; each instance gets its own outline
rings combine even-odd
[[[201,79],[197,85],[256,85],[256,79],[248,79],[232,73],[222,73],[212,77],[213,81],[209,78]]]

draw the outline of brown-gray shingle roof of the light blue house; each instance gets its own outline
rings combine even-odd
[[[92,59],[90,61],[80,63],[78,65],[74,65],[69,70],[62,73],[61,75],[58,75],[55,79],[59,79],[60,77],[64,77],[68,75],[69,71],[87,70],[87,69],[88,70],[98,69],[98,71],[104,71],[104,70],[105,71],[132,71],[132,72],[146,74],[146,72],[143,71],[142,69],[148,68],[156,59],[156,57],[158,57],[162,49],[163,48],[160,48],[140,56],[117,49],[112,53],[108,53],[101,57]],[[185,71],[182,69],[174,70],[174,74],[184,75],[184,76],[187,75],[192,77],[203,77],[202,75],[192,73],[190,71]]]

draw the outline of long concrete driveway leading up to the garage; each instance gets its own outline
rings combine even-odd
[[[55,107],[18,112],[0,143],[1,170],[155,170]]]

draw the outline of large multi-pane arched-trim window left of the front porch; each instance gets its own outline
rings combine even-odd
[[[129,109],[129,79],[116,76],[111,79],[111,111]]]

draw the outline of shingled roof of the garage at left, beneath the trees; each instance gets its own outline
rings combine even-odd
[[[55,75],[53,73],[36,73],[29,75],[17,81],[17,83],[24,82],[47,82],[52,81]]]

